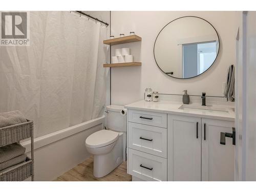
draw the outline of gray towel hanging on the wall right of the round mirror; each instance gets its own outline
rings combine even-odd
[[[224,97],[234,102],[234,66],[230,65],[227,72],[227,80],[225,86]]]

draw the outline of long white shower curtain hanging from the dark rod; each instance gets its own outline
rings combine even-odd
[[[106,30],[70,12],[30,12],[30,46],[0,48],[0,112],[22,111],[37,137],[100,116]]]

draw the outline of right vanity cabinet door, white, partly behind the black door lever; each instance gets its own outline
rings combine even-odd
[[[232,133],[233,126],[230,121],[202,119],[202,181],[234,180],[232,138],[226,137],[226,144],[220,144],[221,132]]]

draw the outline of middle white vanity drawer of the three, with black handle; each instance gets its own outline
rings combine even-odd
[[[167,129],[129,122],[129,148],[167,158]]]

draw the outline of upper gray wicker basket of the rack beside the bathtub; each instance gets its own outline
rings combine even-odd
[[[0,128],[0,147],[33,137],[33,121],[27,119],[19,123]]]

